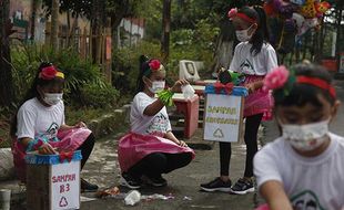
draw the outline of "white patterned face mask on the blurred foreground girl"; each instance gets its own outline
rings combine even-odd
[[[299,150],[310,151],[321,146],[327,138],[330,120],[306,125],[283,125],[283,137]]]

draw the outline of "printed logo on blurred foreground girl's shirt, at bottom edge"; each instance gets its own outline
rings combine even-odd
[[[295,210],[324,210],[317,196],[311,190],[304,190],[291,197]]]

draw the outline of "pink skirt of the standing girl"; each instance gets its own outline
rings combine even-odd
[[[264,76],[246,75],[242,86],[262,80],[264,80]],[[262,88],[256,90],[254,93],[251,93],[245,97],[244,117],[263,113],[263,120],[270,120],[272,119],[272,107],[273,99],[271,93],[263,91]]]

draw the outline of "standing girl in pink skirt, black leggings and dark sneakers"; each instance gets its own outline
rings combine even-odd
[[[267,43],[266,17],[262,8],[243,7],[232,9],[229,17],[235,28],[240,44],[235,46],[230,70],[244,74],[242,84],[249,90],[244,102],[246,164],[244,177],[232,186],[229,177],[231,143],[220,143],[220,177],[209,183],[202,183],[205,191],[225,191],[244,195],[254,191],[253,185],[253,156],[257,151],[257,129],[264,113],[271,109],[269,92],[263,91],[264,76],[277,66],[276,53]]]

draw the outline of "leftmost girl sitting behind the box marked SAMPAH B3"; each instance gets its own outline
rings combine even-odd
[[[80,122],[74,126],[64,123],[62,101],[64,74],[51,63],[42,63],[11,125],[14,138],[12,153],[14,167],[21,181],[26,182],[24,156],[29,151],[52,155],[58,151],[81,150],[81,168],[94,145],[94,136]],[[95,191],[97,185],[81,179],[81,188]]]

